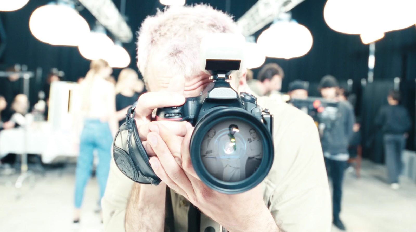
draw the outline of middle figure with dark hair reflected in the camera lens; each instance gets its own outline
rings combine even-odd
[[[224,167],[224,181],[235,182],[241,180],[240,158],[245,146],[244,141],[235,136],[236,132],[239,132],[238,126],[231,124],[228,126],[228,138],[225,136],[219,138],[219,141],[224,141],[222,146],[219,147],[219,154]]]

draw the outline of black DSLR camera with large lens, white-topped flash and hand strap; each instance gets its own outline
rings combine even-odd
[[[269,173],[274,157],[272,114],[258,106],[255,96],[239,94],[228,82],[231,72],[244,67],[244,44],[241,35],[204,37],[201,69],[210,74],[212,82],[200,96],[187,98],[182,106],[156,110],[156,120],[188,121],[195,127],[190,143],[193,167],[208,187],[228,194],[258,185]],[[129,136],[134,133],[129,129],[137,131],[133,121],[134,116],[128,112],[125,124],[132,125],[121,126],[114,141],[114,160],[132,180],[158,184],[160,179],[151,170],[139,136]],[[119,146],[132,149],[126,152]]]

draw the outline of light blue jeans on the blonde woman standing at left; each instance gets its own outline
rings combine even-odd
[[[107,122],[99,119],[86,119],[79,141],[79,156],[75,171],[75,207],[80,208],[85,186],[91,177],[94,160],[93,151],[97,150],[98,165],[96,176],[100,188],[100,200],[104,195],[111,161],[111,143],[113,137]]]

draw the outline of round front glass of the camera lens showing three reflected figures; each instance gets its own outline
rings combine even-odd
[[[257,129],[241,120],[225,120],[208,130],[201,144],[208,173],[218,180],[244,180],[259,168],[263,145]]]

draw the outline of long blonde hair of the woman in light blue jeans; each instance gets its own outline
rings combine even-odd
[[[82,110],[88,111],[91,108],[91,89],[94,84],[94,80],[101,69],[109,67],[108,62],[104,59],[92,60],[89,66],[89,71],[85,74],[84,81],[82,81]]]

